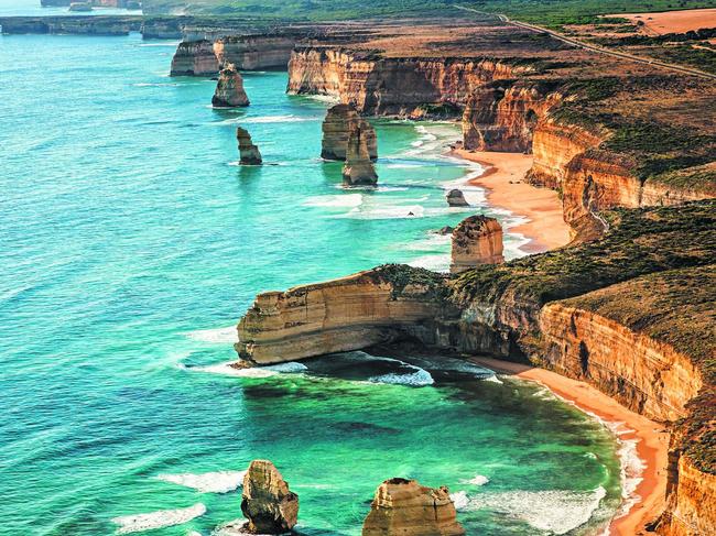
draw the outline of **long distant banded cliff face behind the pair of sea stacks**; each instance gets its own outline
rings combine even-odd
[[[329,95],[362,113],[422,114],[427,106],[464,107],[487,81],[528,66],[455,58],[386,58],[338,47],[297,46],[289,62],[290,94]]]

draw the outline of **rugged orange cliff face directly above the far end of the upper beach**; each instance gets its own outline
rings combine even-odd
[[[532,152],[538,122],[562,98],[558,91],[544,95],[536,87],[505,87],[500,83],[477,89],[463,113],[465,149]]]

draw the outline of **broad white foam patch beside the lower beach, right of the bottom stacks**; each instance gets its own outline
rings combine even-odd
[[[521,519],[539,530],[567,534],[587,523],[606,495],[607,490],[601,486],[582,493],[563,490],[480,493],[469,496],[462,510],[489,510]]]

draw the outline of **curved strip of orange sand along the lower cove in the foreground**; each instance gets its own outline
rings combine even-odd
[[[664,510],[669,433],[662,425],[627,409],[614,398],[584,382],[509,361],[490,358],[470,360],[497,372],[539,382],[562,398],[574,403],[579,409],[595,414],[605,422],[623,423],[627,428],[633,430],[620,435],[620,439],[639,440],[637,453],[644,463],[643,480],[636,490],[639,501],[626,515],[612,519],[609,534],[612,536],[646,534],[644,524],[655,519]]]

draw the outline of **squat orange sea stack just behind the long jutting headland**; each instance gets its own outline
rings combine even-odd
[[[470,216],[453,230],[451,272],[465,272],[480,264],[499,264],[502,256],[502,226],[495,218]]]

